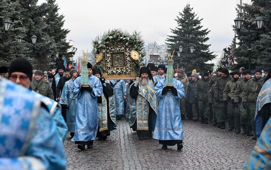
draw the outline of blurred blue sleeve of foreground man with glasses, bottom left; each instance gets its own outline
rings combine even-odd
[[[17,158],[0,158],[0,170],[65,170],[67,161],[57,126],[41,109],[26,153]]]

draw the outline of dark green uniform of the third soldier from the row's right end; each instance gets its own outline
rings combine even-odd
[[[237,80],[234,78],[228,81],[223,91],[223,101],[227,103],[229,113],[229,130],[233,130],[235,127],[235,106],[233,97],[234,92],[232,89],[236,86],[236,81]]]

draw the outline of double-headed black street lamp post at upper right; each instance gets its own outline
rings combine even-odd
[[[237,17],[234,21],[237,28],[237,33],[248,34],[248,69],[251,70],[251,34],[258,33],[259,31],[250,30],[250,26],[248,26],[247,31],[241,31],[241,26],[244,20],[241,17]],[[264,23],[264,19],[263,17],[257,17],[255,22],[257,24],[257,28],[261,29]]]

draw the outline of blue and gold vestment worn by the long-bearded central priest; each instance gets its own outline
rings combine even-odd
[[[148,131],[149,126],[152,126],[152,129],[155,128],[155,120],[158,112],[158,102],[154,92],[154,84],[152,81],[149,81],[147,86],[142,86],[138,84],[138,81],[133,83],[135,86],[138,86],[138,95],[135,99],[132,99],[134,102],[130,102],[131,106],[134,107],[130,112],[129,125],[132,127],[136,123],[136,130]],[[132,84],[132,85],[133,85]],[[130,106],[130,107],[131,107]],[[150,108],[155,112],[153,120],[151,121],[152,125],[148,124]],[[135,122],[136,119],[136,122]]]

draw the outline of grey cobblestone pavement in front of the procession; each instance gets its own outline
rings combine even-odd
[[[93,149],[65,141],[68,170],[242,170],[255,145],[251,137],[200,122],[183,121],[184,147],[162,150],[157,140],[138,140],[125,120]]]

